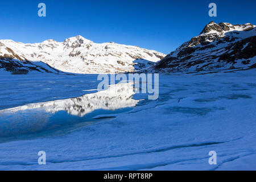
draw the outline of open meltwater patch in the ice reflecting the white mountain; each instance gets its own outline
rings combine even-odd
[[[97,115],[130,110],[139,102],[133,99],[134,94],[132,82],[120,83],[110,85],[107,90],[76,98],[0,110],[0,137],[35,134],[53,129],[64,131],[67,126],[81,127],[92,123],[92,118]]]

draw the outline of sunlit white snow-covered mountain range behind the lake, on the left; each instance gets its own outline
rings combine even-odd
[[[35,44],[0,40],[0,68],[13,73],[43,68],[48,72],[53,72],[53,68],[71,73],[133,72],[149,67],[164,56],[137,46],[93,43],[80,35],[64,42],[46,40]]]

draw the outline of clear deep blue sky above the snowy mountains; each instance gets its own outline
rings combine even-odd
[[[38,3],[47,6],[39,18]],[[208,16],[210,2],[217,17]],[[82,35],[96,43],[116,42],[170,53],[198,35],[205,24],[256,24],[256,1],[242,0],[31,0],[0,1],[0,39],[62,42]]]

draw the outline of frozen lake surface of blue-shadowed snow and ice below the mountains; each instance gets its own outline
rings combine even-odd
[[[56,104],[55,110],[49,111],[51,103],[59,100],[67,104],[73,101],[69,98],[77,97],[88,105],[89,96],[85,95],[84,102],[84,94],[96,94],[96,98],[101,94],[95,90],[99,82],[96,75],[1,75],[0,135],[5,137],[0,137],[0,169],[255,170],[255,76],[253,69],[159,75],[158,100],[124,90],[124,96],[133,96],[127,98],[129,104],[123,105],[121,96],[108,98],[110,105],[113,101],[119,107],[108,110],[103,102],[91,115],[66,113],[73,114],[69,119],[76,122],[61,126],[61,121],[49,119],[61,112]],[[103,92],[108,95],[108,90]],[[46,102],[47,130],[26,134],[20,121],[35,125],[41,121],[40,115],[27,119],[31,117],[27,104]],[[21,118],[15,131],[24,130],[12,133],[15,136],[3,134],[14,127],[14,121],[6,120],[10,110],[14,118],[15,114],[16,119]],[[39,151],[46,151],[46,165],[38,164]],[[209,151],[217,152],[217,165],[208,163]]]

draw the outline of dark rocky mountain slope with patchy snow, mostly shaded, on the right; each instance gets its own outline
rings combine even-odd
[[[146,72],[209,71],[256,67],[256,28],[253,24],[214,23],[183,43]]]

